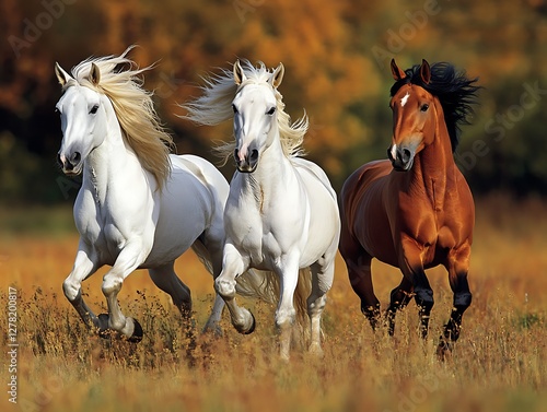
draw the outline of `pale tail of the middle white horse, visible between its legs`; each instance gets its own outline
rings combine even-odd
[[[237,278],[237,294],[258,298],[271,306],[277,306],[280,296],[279,276],[270,271],[249,269]],[[299,281],[294,290],[293,305],[296,310],[293,342],[304,344],[310,340],[310,318],[307,297],[312,292],[312,271],[310,268],[299,271]]]

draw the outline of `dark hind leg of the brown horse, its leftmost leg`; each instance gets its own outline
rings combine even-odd
[[[351,287],[361,298],[361,311],[375,330],[380,320],[380,301],[374,294],[371,275],[372,257],[362,248],[348,247],[340,243],[340,254],[348,268]]]

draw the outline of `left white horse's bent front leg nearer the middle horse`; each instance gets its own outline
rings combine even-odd
[[[148,250],[147,250],[148,249]],[[150,248],[146,248],[140,240],[129,240],[118,255],[112,269],[103,278],[103,294],[108,305],[108,328],[115,330],[131,342],[139,342],[142,339],[142,328],[140,323],[121,313],[118,303],[118,293],[121,290],[124,280],[146,260]],[[100,318],[106,315],[100,315]]]

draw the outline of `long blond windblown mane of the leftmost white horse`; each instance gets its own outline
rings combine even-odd
[[[152,93],[142,89],[143,80],[139,74],[151,67],[139,69],[132,60],[126,58],[132,48],[127,48],[120,56],[89,58],[82,61],[72,69],[74,79],[68,80],[63,91],[77,83],[110,99],[127,143],[142,167],[154,176],[161,189],[171,174],[168,154],[174,143],[160,123]],[[98,84],[90,81],[92,63],[95,63],[101,72]],[[128,69],[116,71],[120,64],[128,66]]]

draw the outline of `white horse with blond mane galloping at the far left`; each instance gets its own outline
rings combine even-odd
[[[126,58],[129,50],[88,59],[72,75],[56,64],[63,91],[56,107],[63,134],[59,163],[67,175],[83,174],[74,203],[81,237],[65,295],[89,327],[139,341],[140,325],[117,302],[124,280],[138,268],[149,269],[188,318],[190,291],[175,274],[174,261],[191,247],[218,276],[229,185],[203,158],[168,154],[172,139],[139,79],[149,68],[135,68]],[[120,64],[127,70],[115,70]],[[102,285],[108,315],[97,317],[82,298],[81,283],[104,264],[112,266]],[[217,295],[206,329],[218,331],[223,306]]]

